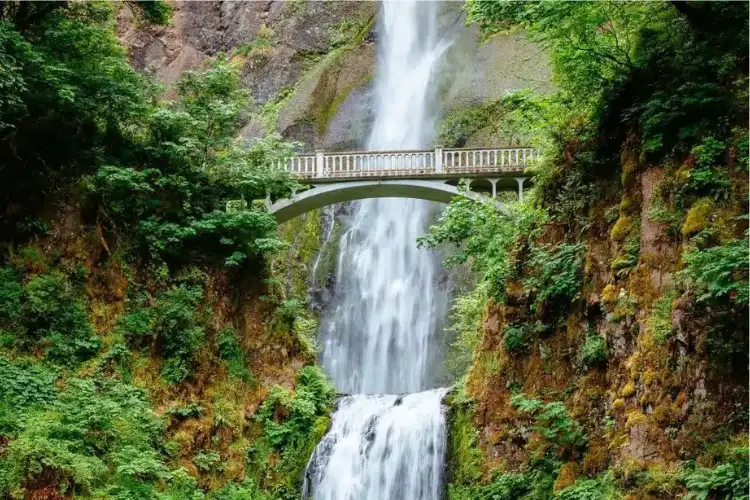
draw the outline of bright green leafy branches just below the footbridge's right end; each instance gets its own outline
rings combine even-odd
[[[489,295],[502,300],[514,273],[518,240],[528,237],[543,220],[544,212],[528,205],[511,204],[501,212],[492,204],[460,197],[448,205],[419,244],[428,248],[454,245],[457,251],[446,264],[470,261],[472,270],[487,282]]]

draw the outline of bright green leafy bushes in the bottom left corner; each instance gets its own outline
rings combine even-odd
[[[170,478],[157,448],[162,424],[141,390],[69,379],[57,399],[19,415],[0,458],[0,493],[22,491],[44,475],[72,494],[143,498]]]

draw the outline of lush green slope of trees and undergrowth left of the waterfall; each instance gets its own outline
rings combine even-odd
[[[257,201],[297,187],[275,167],[297,145],[238,138],[252,99],[223,55],[167,98],[116,8],[0,5],[0,497],[298,496],[333,389],[263,284],[284,244]],[[247,324],[226,313],[243,286]],[[256,379],[252,329],[301,367],[286,389]]]

